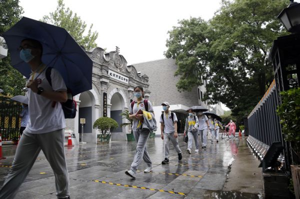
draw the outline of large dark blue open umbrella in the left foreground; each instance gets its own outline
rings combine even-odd
[[[22,17],[3,37],[11,65],[25,77],[29,77],[31,70],[20,59],[18,47],[24,38],[32,38],[42,44],[42,62],[59,71],[72,95],[91,89],[92,61],[65,29]]]

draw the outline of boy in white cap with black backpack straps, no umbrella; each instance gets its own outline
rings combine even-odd
[[[162,140],[164,140],[164,160],[161,162],[161,164],[165,165],[169,163],[170,141],[178,154],[178,160],[182,159],[182,155],[178,145],[176,114],[169,111],[170,104],[168,102],[163,102],[161,105],[164,111],[160,116],[160,137]]]

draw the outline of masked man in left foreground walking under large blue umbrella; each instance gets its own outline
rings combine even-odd
[[[60,103],[67,100],[66,86],[57,70],[52,69],[52,86],[45,77],[47,66],[42,63],[42,45],[25,38],[19,47],[19,56],[31,68],[26,81],[29,121],[20,138],[12,167],[0,189],[1,199],[12,199],[25,180],[40,150],[49,162],[54,176],[56,196],[69,199],[68,172],[64,154],[65,120]]]

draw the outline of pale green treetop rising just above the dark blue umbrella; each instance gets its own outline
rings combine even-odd
[[[89,26],[87,35],[84,36],[86,23],[76,13],[73,14],[69,7],[65,8],[63,0],[58,0],[57,3],[56,10],[44,15],[41,20],[66,29],[75,41],[85,49],[96,47],[95,40],[98,37],[98,32],[91,31],[93,24]]]

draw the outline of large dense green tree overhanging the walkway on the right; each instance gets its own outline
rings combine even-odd
[[[166,41],[174,58],[179,91],[190,91],[208,80],[203,100],[220,101],[242,119],[273,79],[268,52],[272,41],[286,34],[277,14],[288,0],[222,0],[209,21],[178,21]]]

